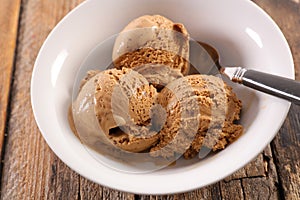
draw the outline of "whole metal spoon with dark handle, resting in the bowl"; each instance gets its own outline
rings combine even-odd
[[[245,69],[243,67],[225,67],[220,64],[218,51],[203,42],[198,42],[206,51],[206,55],[210,56],[210,59],[214,62],[215,67],[211,68],[210,74],[213,74],[213,70],[219,70],[221,74],[227,76],[232,82],[245,85],[255,90],[280,97],[288,100],[294,104],[300,105],[300,82],[280,77],[272,74],[267,74],[251,69]],[[193,49],[195,44],[191,45],[191,56],[197,56],[197,49]],[[197,52],[197,53],[196,53]],[[201,52],[203,55],[203,52]],[[217,73],[217,72],[215,72]]]

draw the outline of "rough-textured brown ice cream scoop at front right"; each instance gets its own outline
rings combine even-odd
[[[204,145],[223,149],[238,138],[243,128],[239,119],[241,101],[222,79],[190,75],[167,85],[158,95],[167,119],[151,155],[192,158]]]

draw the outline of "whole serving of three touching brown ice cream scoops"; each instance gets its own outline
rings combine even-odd
[[[219,77],[188,75],[188,40],[182,24],[160,15],[130,22],[114,44],[115,68],[81,82],[72,104],[79,138],[170,160],[235,141],[241,101]]]

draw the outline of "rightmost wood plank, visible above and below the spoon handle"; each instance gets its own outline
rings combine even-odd
[[[300,2],[257,1],[276,21],[293,53],[296,79],[300,80]],[[300,106],[292,105],[285,123],[272,142],[281,197],[300,199]]]

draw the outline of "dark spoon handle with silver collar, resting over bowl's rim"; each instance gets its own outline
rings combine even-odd
[[[300,82],[241,67],[233,67],[230,70],[226,68],[224,69],[226,75],[228,75],[226,71],[233,72],[233,68],[235,68],[232,76],[229,76],[233,82],[300,105]]]

